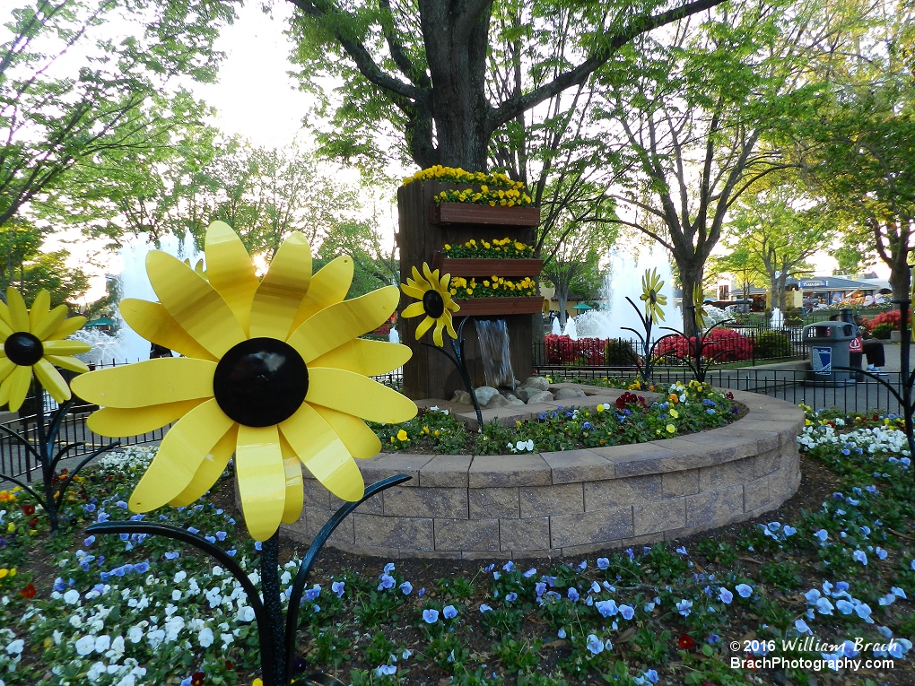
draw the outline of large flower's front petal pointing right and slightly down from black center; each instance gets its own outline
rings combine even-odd
[[[406,422],[416,416],[415,403],[405,395],[346,370],[310,368],[305,400],[370,422]]]

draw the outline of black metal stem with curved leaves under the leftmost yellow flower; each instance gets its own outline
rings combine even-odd
[[[108,445],[103,445],[98,450],[95,450],[84,457],[77,466],[70,469],[67,478],[63,480],[63,483],[60,484],[60,487],[56,489],[57,492],[55,493],[54,476],[57,474],[57,466],[59,465],[60,460],[62,460],[73,448],[85,445],[85,442],[77,441],[76,443],[64,445],[57,451],[54,450],[55,445],[57,445],[58,434],[60,433],[60,423],[63,422],[63,418],[70,412],[70,408],[76,401],[71,399],[59,405],[58,409],[51,413],[48,424],[46,425],[44,393],[41,391],[38,392],[41,396],[41,407],[35,415],[36,433],[38,434],[36,443],[33,444],[25,436],[17,434],[3,424],[0,424],[0,432],[11,436],[18,444],[25,447],[27,454],[32,456],[35,463],[41,467],[42,492],[39,494],[35,488],[31,488],[21,479],[16,477],[9,477],[0,473],[0,479],[12,481],[16,486],[22,488],[31,495],[32,498],[38,500],[38,505],[48,513],[48,523],[50,525],[51,535],[56,536],[60,526],[60,504],[63,502],[63,497],[67,493],[67,488],[70,488],[73,478],[76,477],[83,466],[89,464],[94,458],[102,455],[105,451],[121,445],[121,442],[112,441]]]

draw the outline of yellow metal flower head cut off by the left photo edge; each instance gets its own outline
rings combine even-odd
[[[48,291],[41,291],[32,303],[31,312],[22,295],[13,288],[6,289],[6,303],[0,303],[0,405],[9,403],[16,412],[26,400],[28,387],[35,372],[38,382],[57,402],[70,400],[70,387],[63,380],[61,367],[71,371],[89,371],[79,359],[72,357],[89,352],[92,346],[76,340],[63,340],[81,329],[84,316],[67,318],[67,305],[50,308]]]

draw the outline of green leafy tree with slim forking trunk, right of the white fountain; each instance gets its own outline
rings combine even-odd
[[[807,55],[840,30],[827,18],[813,2],[721,5],[701,26],[640,37],[600,73],[620,220],[671,252],[684,293],[703,283],[728,209],[790,164],[763,137],[813,98]]]

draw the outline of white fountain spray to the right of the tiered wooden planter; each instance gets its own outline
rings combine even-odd
[[[670,333],[659,330],[660,327],[680,327],[680,310],[673,307],[673,275],[667,256],[656,249],[633,254],[615,248],[610,253],[608,273],[604,277],[602,290],[605,297],[601,301],[604,307],[576,316],[578,335],[583,338],[634,338],[632,332],[623,327],[640,330],[642,324],[626,298],[641,306],[641,277],[646,269],[651,268],[658,271],[664,282],[662,294],[667,295],[667,304],[662,306],[664,320],[655,323],[652,338]]]

